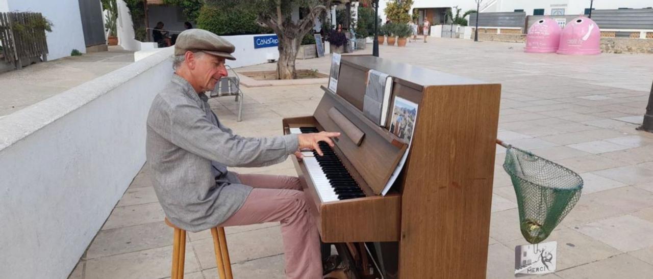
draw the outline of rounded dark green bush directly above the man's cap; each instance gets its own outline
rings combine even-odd
[[[271,29],[256,23],[257,14],[242,6],[216,7],[206,5],[200,9],[197,27],[217,35],[246,35],[272,33]]]

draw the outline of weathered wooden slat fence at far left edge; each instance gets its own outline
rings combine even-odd
[[[50,28],[40,12],[0,12],[0,44],[7,63],[22,68],[22,61],[33,57],[47,60],[45,31]]]

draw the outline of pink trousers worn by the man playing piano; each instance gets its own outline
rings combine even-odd
[[[252,186],[245,203],[219,226],[281,222],[287,278],[322,278],[320,241],[302,186],[297,177],[238,174]]]

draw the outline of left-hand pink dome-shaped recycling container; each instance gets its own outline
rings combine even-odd
[[[524,51],[530,53],[556,52],[560,45],[560,33],[562,33],[562,28],[555,20],[550,18],[538,20],[528,29]]]

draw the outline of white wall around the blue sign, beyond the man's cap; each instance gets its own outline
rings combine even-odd
[[[271,35],[271,34],[263,34]],[[257,48],[254,49],[254,37],[261,35],[236,35],[236,36],[222,36],[227,39],[231,44],[236,47],[236,51],[232,55],[236,57],[235,61],[227,60],[227,65],[233,68],[257,65],[267,63],[268,59],[279,59],[279,49],[274,46],[272,48]]]

